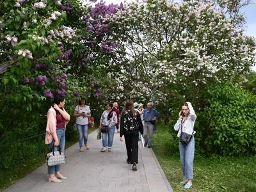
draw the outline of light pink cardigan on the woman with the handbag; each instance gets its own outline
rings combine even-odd
[[[65,111],[65,109],[63,108]],[[67,125],[68,122],[66,122],[65,125]],[[50,144],[53,140],[52,133],[56,131],[56,111],[54,108],[50,108],[47,112],[47,125],[46,125],[46,134],[45,134],[45,144]]]

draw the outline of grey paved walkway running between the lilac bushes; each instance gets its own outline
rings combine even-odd
[[[60,184],[47,181],[46,164],[6,189],[19,192],[173,192],[150,148],[142,148],[139,143],[138,171],[131,170],[126,163],[125,142],[115,133],[111,152],[100,152],[102,140],[96,140],[97,132],[88,136],[90,150],[79,152],[79,145],[65,150],[65,164],[61,173],[67,177]]]

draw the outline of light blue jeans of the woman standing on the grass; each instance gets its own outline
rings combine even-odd
[[[195,139],[194,136],[188,145],[179,142],[180,162],[183,176],[186,179],[193,179],[193,161],[195,156]]]

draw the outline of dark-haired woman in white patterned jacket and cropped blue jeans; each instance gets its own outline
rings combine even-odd
[[[116,112],[112,110],[113,104],[108,102],[106,105],[107,110],[104,111],[100,118],[100,127],[102,129],[102,125],[108,126],[108,132],[102,132],[102,146],[103,148],[100,150],[101,152],[105,152],[107,150],[111,152],[113,139],[115,134],[115,125],[117,124],[117,116]],[[108,143],[107,143],[108,140]]]

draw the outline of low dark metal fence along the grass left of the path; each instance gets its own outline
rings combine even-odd
[[[24,163],[26,159],[36,157],[47,150],[44,141],[45,132],[29,135],[0,146],[0,169],[6,170]]]

